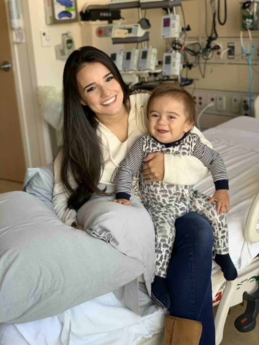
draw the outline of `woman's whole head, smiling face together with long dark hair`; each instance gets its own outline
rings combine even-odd
[[[94,47],[83,47],[69,56],[63,88],[64,145],[58,157],[61,167],[57,178],[70,195],[68,205],[78,209],[93,192],[105,195],[97,186],[103,170],[97,126],[103,121],[112,124],[123,114],[127,118],[131,91],[111,59]],[[109,120],[110,115],[114,119]]]

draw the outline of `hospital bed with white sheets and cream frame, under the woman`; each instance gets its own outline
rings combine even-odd
[[[230,179],[228,214],[229,248],[238,279],[224,280],[217,264],[212,267],[216,344],[220,344],[231,306],[243,292],[258,289],[259,276],[259,120],[237,117],[204,132],[224,159]],[[212,178],[194,188],[213,194]],[[140,291],[141,315],[119,302],[113,293],[89,300],[57,316],[23,324],[3,325],[1,345],[161,345],[166,311],[158,309]],[[248,334],[249,336],[249,334]]]

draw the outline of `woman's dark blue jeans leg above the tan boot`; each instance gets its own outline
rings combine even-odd
[[[197,320],[200,345],[215,345],[211,267],[213,233],[207,219],[188,213],[175,222],[176,236],[167,273],[170,315]]]

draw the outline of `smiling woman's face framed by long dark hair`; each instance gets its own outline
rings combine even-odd
[[[123,91],[112,72],[100,62],[92,62],[77,73],[81,103],[103,115],[118,115],[123,107]],[[124,107],[123,107],[124,108]]]

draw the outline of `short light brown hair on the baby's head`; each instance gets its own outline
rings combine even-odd
[[[195,124],[195,119],[197,117],[197,108],[193,97],[181,86],[175,85],[170,82],[162,82],[152,91],[147,102],[147,117],[151,101],[157,97],[163,96],[171,96],[173,99],[183,102],[186,119],[192,122],[193,125]]]

